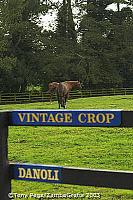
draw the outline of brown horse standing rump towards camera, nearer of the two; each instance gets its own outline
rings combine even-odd
[[[81,83],[79,81],[65,81],[62,83],[59,83],[57,88],[57,99],[59,108],[66,107],[66,101],[69,97],[69,92],[73,89],[81,89]]]

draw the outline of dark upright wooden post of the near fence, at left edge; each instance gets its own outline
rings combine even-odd
[[[8,162],[8,113],[0,112],[0,199],[9,200],[11,178]]]

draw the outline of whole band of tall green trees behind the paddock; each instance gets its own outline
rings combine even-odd
[[[116,11],[108,9],[112,3]],[[133,87],[131,5],[124,0],[1,0],[1,92],[22,92],[30,85],[46,90],[51,81],[70,79],[85,88]],[[44,30],[39,16],[55,9],[55,30]]]

